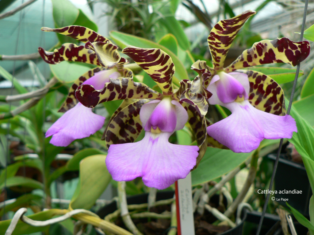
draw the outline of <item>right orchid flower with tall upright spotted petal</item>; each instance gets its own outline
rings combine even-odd
[[[285,115],[281,87],[254,70],[240,70],[253,65],[288,63],[297,65],[310,52],[309,43],[292,42],[287,38],[262,40],[243,51],[231,65],[223,67],[227,52],[245,21],[255,14],[246,11],[219,21],[208,36],[213,68],[197,61],[192,69],[199,74],[200,92],[212,93],[209,104],[219,104],[232,114],[207,127],[207,133],[234,152],[251,152],[264,138],[291,138],[297,131],[294,119]]]

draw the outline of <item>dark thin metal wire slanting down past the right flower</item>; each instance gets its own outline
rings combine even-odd
[[[304,4],[304,13],[303,13],[303,21],[302,21],[302,26],[301,26],[301,33],[300,33],[300,40],[302,41],[303,39],[303,33],[304,33],[304,27],[305,27],[305,20],[306,20],[306,12],[307,12],[307,5],[308,5],[308,0],[305,0],[305,4]],[[287,115],[289,115],[290,110],[291,110],[291,105],[292,105],[292,100],[293,100],[293,96],[295,93],[295,86],[296,86],[296,82],[298,80],[298,76],[299,76],[299,71],[300,71],[300,63],[297,65],[296,67],[296,72],[295,72],[295,80],[293,82],[293,86],[292,86],[292,92],[291,92],[291,96],[290,96],[290,100],[289,100],[289,105],[288,105],[288,109],[287,109]],[[276,175],[276,170],[277,170],[277,166],[278,166],[278,161],[279,161],[279,154],[281,152],[281,147],[282,147],[282,142],[284,139],[280,139],[280,143],[279,143],[279,148],[278,148],[278,152],[277,152],[277,157],[276,157],[276,161],[274,164],[274,168],[273,168],[273,174],[272,174],[272,178],[270,180],[270,184],[269,184],[269,188],[268,191],[270,191],[273,187],[273,182],[275,179],[275,175]],[[263,207],[263,212],[262,212],[262,216],[261,219],[259,221],[258,227],[257,227],[257,232],[256,235],[259,235],[259,233],[261,232],[261,228],[262,228],[262,224],[263,224],[263,220],[264,220],[264,216],[266,213],[266,209],[267,209],[267,204],[269,201],[269,197],[270,197],[270,193],[267,194],[266,196],[266,200],[265,200],[265,204]]]

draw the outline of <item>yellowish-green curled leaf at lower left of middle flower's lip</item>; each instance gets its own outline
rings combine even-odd
[[[106,155],[89,156],[80,162],[78,188],[75,191],[70,207],[89,210],[110,183],[111,175],[106,168]]]

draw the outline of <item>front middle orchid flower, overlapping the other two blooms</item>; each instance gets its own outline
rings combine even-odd
[[[114,180],[143,177],[145,185],[165,189],[185,178],[202,158],[203,143],[205,148],[207,143],[203,116],[208,104],[206,99],[188,92],[190,81],[181,81],[178,91],[173,91],[175,67],[164,51],[128,46],[122,53],[133,59],[157,83],[162,93],[130,78],[118,78],[105,83],[101,90],[83,84],[75,94],[86,107],[111,100],[129,102],[119,107],[104,135],[109,147],[107,169]],[[196,133],[200,147],[169,143],[171,134],[187,122]],[[143,129],[144,138],[134,143]]]

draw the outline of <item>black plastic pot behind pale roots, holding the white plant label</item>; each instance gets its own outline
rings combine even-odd
[[[165,200],[172,198],[174,196],[174,191],[160,191],[157,193],[156,201]],[[217,195],[218,196],[218,195]],[[219,197],[219,196],[218,196]],[[127,197],[127,204],[142,204],[147,203],[148,194],[140,194],[135,196]],[[116,202],[111,202],[110,204],[101,208],[96,214],[100,218],[104,218],[106,215],[115,212],[117,209]],[[219,235],[242,235],[243,223],[246,219],[246,210],[242,213],[242,221],[237,224],[236,227],[233,227]]]

